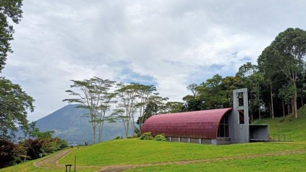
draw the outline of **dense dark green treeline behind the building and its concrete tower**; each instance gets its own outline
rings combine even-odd
[[[215,75],[201,84],[190,84],[192,95],[183,100],[188,110],[232,107],[232,90],[248,88],[250,119],[286,116],[297,118],[305,100],[306,31],[288,28],[279,33],[258,57],[239,67],[236,76]]]

